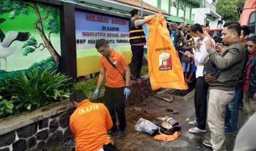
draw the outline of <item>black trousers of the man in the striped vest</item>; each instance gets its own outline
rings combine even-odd
[[[130,74],[134,77],[140,76],[142,67],[144,45],[131,45],[133,52],[132,61],[130,62]]]

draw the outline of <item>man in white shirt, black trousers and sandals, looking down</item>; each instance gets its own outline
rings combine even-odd
[[[207,93],[209,85],[205,82],[203,77],[204,64],[208,61],[209,56],[205,48],[205,41],[208,37],[204,34],[203,28],[200,24],[194,24],[190,29],[190,34],[193,36],[195,42],[195,54],[190,54],[188,51],[186,54],[189,57],[194,57],[195,66],[197,71],[195,77],[197,78],[197,84],[195,85],[194,103],[195,103],[195,117],[194,121],[190,121],[189,125],[195,125],[192,129],[189,129],[191,133],[206,132],[206,115],[207,115]],[[215,45],[215,43],[214,43]]]

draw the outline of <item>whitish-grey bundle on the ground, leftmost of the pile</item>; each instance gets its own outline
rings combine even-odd
[[[152,133],[154,133],[156,131],[160,132],[160,127],[155,125],[154,123],[152,123],[149,120],[140,118],[138,120],[137,124],[135,125],[135,130],[137,130],[139,132],[149,133],[150,135],[152,135]]]

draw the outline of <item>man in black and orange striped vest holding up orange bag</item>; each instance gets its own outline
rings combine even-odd
[[[130,79],[136,81],[138,78],[142,79],[140,76],[140,71],[142,67],[144,45],[146,44],[146,36],[142,25],[156,18],[158,14],[146,19],[140,19],[138,9],[133,9],[130,14],[132,19],[129,21],[129,36],[130,45],[133,52],[132,61],[130,62]]]

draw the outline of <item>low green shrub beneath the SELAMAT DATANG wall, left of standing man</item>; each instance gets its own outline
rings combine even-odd
[[[80,80],[79,82],[76,82],[73,85],[73,90],[83,90],[86,94],[89,94],[89,92],[94,92],[97,86],[98,77],[94,77],[89,80]],[[101,89],[105,88],[105,80],[102,83]]]

